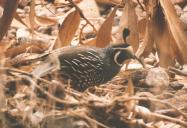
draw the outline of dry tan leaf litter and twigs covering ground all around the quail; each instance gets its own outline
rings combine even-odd
[[[180,20],[186,11],[179,16],[175,8],[185,10],[184,1],[0,2],[0,127],[187,127],[187,23]],[[99,14],[101,10],[106,12]],[[84,31],[88,27],[91,33]],[[54,49],[124,43],[124,28],[132,31],[125,43],[145,68],[131,61],[108,83],[84,92],[63,84],[55,72],[44,78],[31,74],[44,61],[41,56]]]

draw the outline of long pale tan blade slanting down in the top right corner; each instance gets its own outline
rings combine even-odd
[[[179,48],[182,63],[187,63],[187,36],[170,0],[160,0],[171,34]]]

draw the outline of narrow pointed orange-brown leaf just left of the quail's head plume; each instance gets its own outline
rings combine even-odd
[[[114,22],[114,17],[116,14],[117,6],[112,10],[108,18],[105,20],[105,22],[101,25],[97,37],[96,37],[96,47],[103,48],[106,45],[108,45],[111,41],[111,31],[112,31],[112,25]]]

